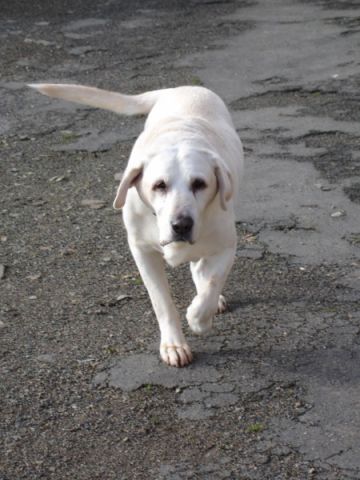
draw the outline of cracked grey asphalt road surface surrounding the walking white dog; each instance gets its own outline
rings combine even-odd
[[[0,39],[0,480],[360,479],[359,2],[2,1]],[[111,207],[144,119],[37,81],[229,105],[230,311],[190,367],[158,358]]]

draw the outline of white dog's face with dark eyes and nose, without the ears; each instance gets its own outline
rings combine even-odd
[[[138,190],[156,215],[160,245],[195,243],[202,214],[215,197],[214,168],[198,151],[167,150],[144,168]]]

